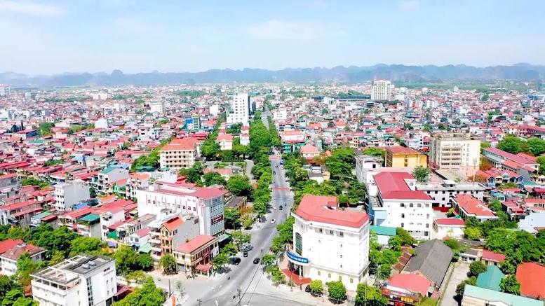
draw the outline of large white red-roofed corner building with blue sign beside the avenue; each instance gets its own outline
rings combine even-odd
[[[295,249],[286,252],[290,270],[301,277],[342,281],[355,291],[369,265],[369,217],[337,210],[337,197],[305,195],[293,226]]]

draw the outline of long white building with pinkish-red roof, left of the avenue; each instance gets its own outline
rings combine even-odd
[[[217,187],[191,187],[176,183],[156,182],[144,190],[136,190],[138,216],[159,215],[161,210],[199,216],[200,233],[218,235],[224,231],[223,203],[225,190]]]

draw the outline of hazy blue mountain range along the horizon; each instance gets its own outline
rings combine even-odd
[[[15,72],[0,73],[0,83],[29,86],[82,86],[82,85],[156,85],[180,83],[295,83],[343,82],[356,83],[387,78],[396,82],[440,82],[440,81],[534,81],[545,78],[545,66],[527,63],[512,66],[471,67],[464,64],[447,66],[405,66],[377,64],[372,67],[333,68],[288,68],[267,69],[210,69],[202,72],[158,72],[123,74],[120,70],[112,74],[104,72],[90,74],[66,73],[54,76],[27,76]]]

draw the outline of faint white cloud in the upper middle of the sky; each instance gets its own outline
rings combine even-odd
[[[330,29],[313,21],[268,20],[248,27],[255,39],[312,41],[326,36],[346,36],[346,32]]]

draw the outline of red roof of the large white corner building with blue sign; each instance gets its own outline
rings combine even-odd
[[[295,214],[309,221],[360,228],[369,221],[363,211],[342,211],[328,207],[337,207],[337,197],[323,195],[304,195]]]

